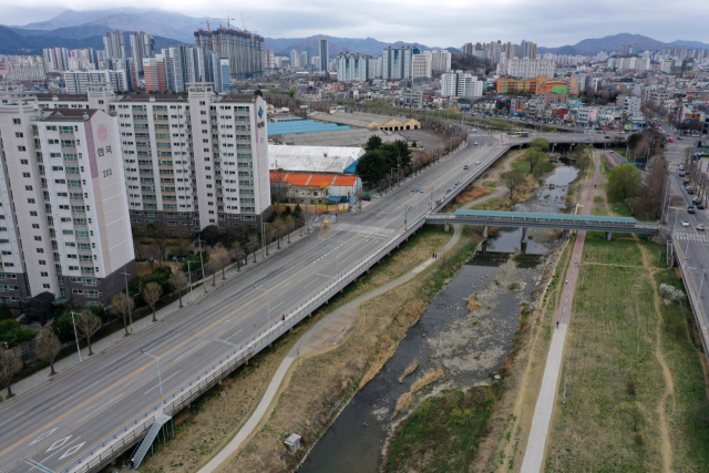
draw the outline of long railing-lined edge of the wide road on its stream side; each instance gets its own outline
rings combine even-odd
[[[117,456],[117,454],[125,451],[136,440],[143,436],[144,432],[146,432],[154,422],[155,415],[142,422],[141,425],[137,425],[141,420],[146,419],[152,412],[155,412],[160,408],[163,409],[164,413],[171,413],[171,415],[174,417],[185,405],[219,382],[226,374],[248,361],[249,358],[286,333],[291,327],[312,313],[318,307],[327,304],[338,291],[371,268],[393,248],[397,248],[411,234],[425,224],[425,217],[429,212],[429,209],[425,209],[423,213],[414,216],[414,222],[408,225],[407,228],[399,228],[397,234],[390,236],[383,243],[379,244],[377,248],[360,257],[353,266],[350,266],[350,268],[340,275],[335,276],[322,288],[288,310],[285,313],[285,320],[278,319],[271,321],[267,327],[254,333],[234,350],[214,362],[209,368],[199,372],[189,381],[167,394],[164,401],[152,404],[56,473],[89,473],[93,469],[101,467],[107,461]],[[129,431],[131,425],[137,426]]]

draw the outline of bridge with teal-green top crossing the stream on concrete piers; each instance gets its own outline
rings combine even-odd
[[[614,233],[654,235],[659,224],[647,224],[630,217],[607,217],[602,215],[527,214],[522,212],[455,210],[454,214],[430,214],[427,224],[462,224],[484,227],[522,228],[522,243],[527,243],[530,228],[563,229],[567,237],[571,230],[604,232],[606,239]]]

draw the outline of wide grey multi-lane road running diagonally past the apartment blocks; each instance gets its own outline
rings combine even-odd
[[[0,404],[0,473],[61,470],[160,399],[156,363],[142,350],[161,358],[167,395],[403,227],[405,208],[411,220],[465,173],[491,164],[500,146],[472,135],[467,147],[363,212],[340,215],[327,232],[317,227],[177,315]]]

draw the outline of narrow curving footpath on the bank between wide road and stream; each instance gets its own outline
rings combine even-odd
[[[448,253],[460,240],[461,238],[460,225],[454,225],[453,228],[454,228],[453,238],[451,238],[451,240],[443,247],[443,249],[441,249],[440,255],[444,255],[445,253]],[[248,421],[246,421],[244,426],[242,426],[242,429],[237,432],[234,439],[219,453],[217,453],[216,456],[214,456],[212,461],[209,461],[209,463],[207,463],[205,466],[199,469],[198,473],[213,473],[217,471],[219,466],[222,466],[222,464],[227,462],[229,457],[236,453],[236,451],[242,445],[242,443],[244,443],[244,441],[246,441],[251,435],[251,433],[254,433],[254,431],[257,429],[258,424],[260,423],[261,419],[264,419],[264,417],[268,413],[268,411],[271,410],[270,409],[271,403],[276,398],[276,395],[278,394],[280,384],[284,378],[286,378],[286,374],[288,373],[288,370],[290,369],[290,366],[292,364],[292,362],[296,361],[296,359],[300,354],[306,354],[306,353],[309,354],[311,352],[318,351],[318,350],[315,350],[312,346],[323,345],[321,343],[320,340],[316,340],[318,336],[322,335],[322,332],[325,331],[330,330],[331,336],[330,337],[326,336],[325,338],[327,338],[329,342],[332,342],[332,340],[335,340],[333,342],[337,343],[338,339],[341,339],[341,336],[343,336],[345,332],[349,329],[349,326],[351,326],[351,323],[356,321],[356,318],[347,317],[348,312],[351,312],[353,309],[356,309],[360,304],[364,302],[366,300],[377,297],[388,291],[389,289],[392,289],[408,281],[409,279],[413,278],[419,273],[421,273],[423,269],[425,269],[425,267],[428,267],[431,263],[433,263],[433,258],[429,258],[427,261],[424,261],[413,270],[409,271],[404,276],[401,276],[399,279],[395,279],[389,282],[388,285],[380,287],[379,289],[372,292],[366,294],[362,297],[347,304],[346,306],[340,307],[332,313],[325,317],[318,323],[316,323],[316,326],[312,327],[310,330],[308,330],[300,338],[300,340],[298,340],[296,345],[290,349],[290,351],[288,352],[284,361],[280,363],[280,367],[278,367],[278,370],[276,370],[276,373],[274,374],[274,378],[268,384],[268,388],[266,389],[266,392],[264,393],[261,401],[258,403],[258,407],[256,408],[251,417],[248,419]],[[348,320],[342,320],[346,318]]]

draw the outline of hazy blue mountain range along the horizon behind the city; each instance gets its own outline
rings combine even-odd
[[[0,25],[0,53],[30,54],[37,53],[42,48],[103,48],[101,37],[106,31],[119,30],[145,31],[155,37],[156,49],[171,44],[193,44],[194,31],[198,28],[218,28],[224,24],[224,19],[193,18],[181,13],[146,10],[138,8],[120,8],[94,11],[64,11],[56,17],[25,25]],[[207,25],[208,23],[208,25]],[[236,23],[234,23],[236,27]],[[239,24],[239,27],[245,27]],[[278,55],[288,55],[290,50],[308,51],[311,55],[318,55],[318,39],[322,34],[308,38],[264,38],[265,48]],[[383,42],[373,38],[337,38],[330,39],[330,56],[340,52],[359,52],[363,54],[379,55],[388,47],[418,45],[421,49],[429,48],[412,42]],[[709,44],[677,40],[671,43],[654,40],[641,34],[620,33],[605,38],[586,39],[573,45],[559,48],[537,48],[538,53],[552,52],[556,54],[595,54],[600,51],[619,51],[624,43],[636,43],[639,51],[658,50],[669,47],[685,47],[709,49]],[[129,42],[126,41],[126,48]],[[455,48],[445,48],[449,51],[460,51]]]

